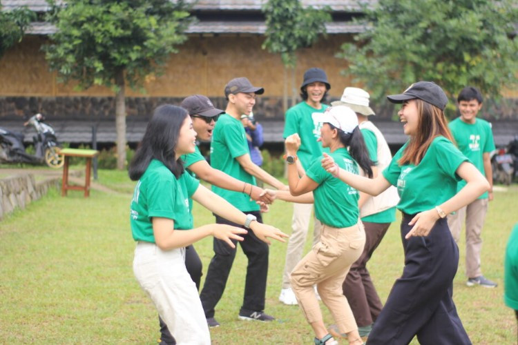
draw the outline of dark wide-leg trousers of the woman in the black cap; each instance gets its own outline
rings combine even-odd
[[[423,345],[471,344],[452,300],[459,248],[446,219],[439,219],[427,237],[405,235],[414,215],[401,221],[405,251],[403,275],[392,286],[367,344],[408,344],[417,335]]]

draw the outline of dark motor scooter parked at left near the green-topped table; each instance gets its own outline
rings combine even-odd
[[[50,168],[61,168],[64,164],[64,157],[59,154],[59,144],[54,128],[45,124],[44,120],[44,116],[38,113],[23,124],[23,126],[31,125],[36,130],[36,135],[32,137],[35,147],[34,155],[26,152],[23,145],[25,137],[23,133],[12,132],[0,127],[0,163],[45,163]]]

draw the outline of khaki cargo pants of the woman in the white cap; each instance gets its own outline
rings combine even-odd
[[[324,225],[320,241],[297,264],[291,273],[291,288],[298,305],[310,324],[322,321],[322,311],[313,289],[333,315],[340,333],[349,333],[358,327],[354,321],[342,283],[351,265],[360,257],[365,246],[363,224],[348,228],[332,228]]]

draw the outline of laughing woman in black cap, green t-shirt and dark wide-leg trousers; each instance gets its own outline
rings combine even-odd
[[[403,275],[397,279],[376,319],[368,344],[471,344],[452,300],[459,262],[445,217],[485,193],[489,184],[452,144],[443,110],[443,90],[430,81],[412,84],[387,97],[403,103],[398,115],[410,140],[375,179],[351,174],[326,157],[322,166],[345,183],[370,195],[390,185],[401,197]],[[460,179],[467,184],[457,193]]]

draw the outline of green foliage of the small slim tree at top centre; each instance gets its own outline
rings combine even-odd
[[[298,0],[269,0],[262,8],[266,17],[266,40],[262,48],[280,54],[287,67],[296,66],[296,50],[311,46],[325,23],[331,21],[327,8],[303,8]]]

